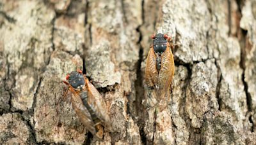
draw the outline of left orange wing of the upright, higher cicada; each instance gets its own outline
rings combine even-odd
[[[159,101],[157,95],[158,72],[156,69],[156,55],[154,48],[148,52],[145,69],[145,106],[154,107]]]

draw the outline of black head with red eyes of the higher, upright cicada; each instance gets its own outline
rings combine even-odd
[[[153,48],[156,53],[163,53],[167,48],[167,43],[170,41],[170,37],[167,34],[154,34],[152,36],[153,39]]]

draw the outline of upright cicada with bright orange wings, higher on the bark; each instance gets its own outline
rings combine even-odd
[[[160,101],[168,102],[174,74],[174,60],[167,34],[152,36],[153,45],[148,52],[145,69],[145,106],[154,107]]]

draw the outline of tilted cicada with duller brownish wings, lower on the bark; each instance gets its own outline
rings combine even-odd
[[[81,70],[70,72],[66,79],[63,83],[72,92],[71,102],[79,120],[93,135],[102,138],[102,125],[109,127],[104,99]]]

